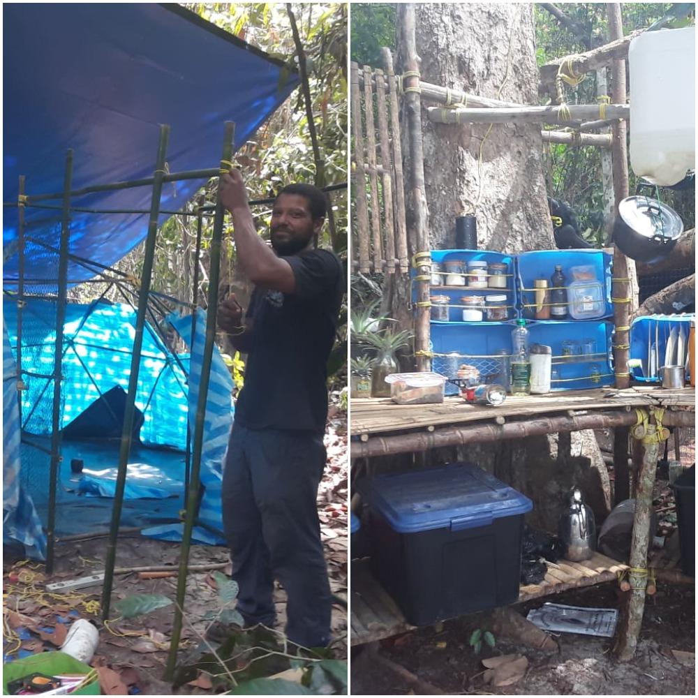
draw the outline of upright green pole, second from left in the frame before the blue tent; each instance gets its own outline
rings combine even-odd
[[[48,520],[46,523],[46,572],[53,572],[56,552],[56,495],[61,457],[61,383],[63,381],[63,326],[66,321],[68,296],[68,246],[70,244],[70,187],[73,184],[73,151],[66,154],[63,179],[63,219],[58,259],[58,294],[56,300],[56,348],[53,369],[53,415],[51,421],[51,470],[48,489]]]

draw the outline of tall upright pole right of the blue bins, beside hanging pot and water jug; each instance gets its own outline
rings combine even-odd
[[[623,37],[623,18],[620,3],[607,3],[609,20],[609,38],[611,41]],[[613,89],[611,101],[614,104],[625,104],[627,91],[625,89],[625,61],[614,60],[612,64]],[[618,215],[618,205],[628,196],[628,124],[623,119],[616,119],[611,127],[611,169],[614,185],[614,215]],[[614,302],[614,322],[616,324],[616,340],[614,346],[614,365],[616,371],[616,387],[627,388],[630,385],[628,373],[628,356],[630,348],[630,315],[637,304],[634,285],[629,281],[635,276],[635,262],[629,260],[614,245],[614,281],[611,297],[618,299]],[[628,279],[628,281],[626,281]],[[630,302],[626,299],[630,298]],[[618,473],[614,487],[616,503],[627,498],[630,491],[628,475],[628,429],[614,430],[614,469]]]

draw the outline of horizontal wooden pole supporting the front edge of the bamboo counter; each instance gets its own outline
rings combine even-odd
[[[495,413],[492,416],[496,416]],[[420,431],[395,436],[374,436],[367,441],[352,442],[351,457],[354,459],[387,456],[466,443],[526,438],[559,431],[608,429],[618,426],[632,426],[636,423],[637,415],[634,411],[615,410],[586,415],[536,417],[535,419],[523,419],[519,422],[506,422],[505,424],[445,426],[431,432]],[[664,414],[663,424],[665,426],[693,426],[695,414],[692,412],[667,412]]]

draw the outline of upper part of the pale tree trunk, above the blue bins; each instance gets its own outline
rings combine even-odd
[[[416,13],[422,80],[535,105],[538,73],[530,4],[422,3]],[[403,66],[402,46],[399,59]],[[473,211],[483,249],[554,247],[540,126],[434,124],[424,114],[422,132],[432,248],[453,248],[454,219]],[[403,152],[409,157],[408,149]],[[407,184],[406,191],[412,187]]]

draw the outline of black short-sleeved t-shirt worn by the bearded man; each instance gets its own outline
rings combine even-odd
[[[343,295],[341,262],[327,250],[284,257],[292,294],[255,288],[245,383],[235,419],[248,429],[325,431],[327,358]]]

